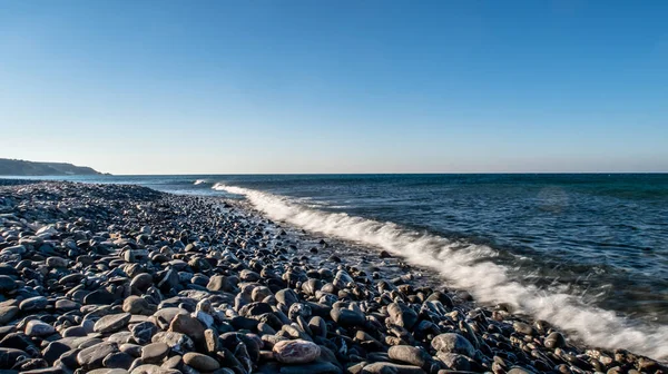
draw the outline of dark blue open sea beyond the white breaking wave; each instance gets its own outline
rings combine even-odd
[[[566,293],[630,321],[668,325],[666,174],[75,179],[230,196],[226,187],[212,188],[220,184],[247,189],[243,195],[250,190],[287,197],[289,204],[308,211],[389,222],[462,245],[489,248],[484,260],[538,292]],[[258,201],[254,204],[264,204]]]

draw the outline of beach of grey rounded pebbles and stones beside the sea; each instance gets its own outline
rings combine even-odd
[[[573,346],[546,323],[528,323],[501,307],[477,306],[468,293],[444,289],[436,275],[424,270],[419,276],[413,272],[416,267],[399,257],[360,250],[338,240],[321,242],[313,234],[271,223],[259,213],[222,198],[171,195],[138,186],[35,180],[17,186],[0,183],[0,256],[13,265],[13,272],[8,266],[0,270],[8,277],[0,282],[4,295],[0,321],[6,325],[0,332],[0,357],[7,357],[0,360],[0,368],[11,370],[4,367],[10,362],[28,368],[57,367],[56,372],[62,373],[81,367],[90,372],[111,368],[105,360],[112,357],[124,358],[124,365],[131,358],[121,367],[130,373],[167,362],[174,367],[163,371],[178,367],[179,373],[193,373],[202,364],[190,361],[195,356],[195,361],[210,364],[208,368],[218,366],[199,372],[227,374],[666,372],[658,362],[627,351],[586,350],[577,342]],[[13,218],[7,218],[12,206],[3,199],[10,193],[28,207],[21,211],[16,208],[21,205],[14,205],[14,216],[20,213],[29,219],[17,220],[14,225],[22,230],[7,240],[11,236],[4,235],[8,223],[11,226]],[[47,213],[52,217],[45,216]],[[87,219],[79,220],[81,217]],[[47,225],[35,225],[40,219]],[[178,227],[170,226],[175,223]],[[189,232],[184,236],[178,228]],[[81,236],[88,245],[75,240]],[[47,242],[56,243],[43,248]],[[26,260],[37,264],[37,270]],[[138,286],[137,277],[148,285]],[[424,287],[425,282],[431,287]],[[29,285],[33,287],[28,289]],[[70,286],[73,288],[68,291]],[[102,295],[107,298],[96,301],[110,303],[89,303],[90,294]],[[35,296],[24,297],[30,295]],[[24,307],[27,299],[36,297],[37,306]],[[68,308],[59,308],[59,303]],[[166,309],[169,313],[160,312]],[[10,318],[8,313],[14,314]],[[41,321],[27,321],[29,315]],[[112,328],[96,329],[105,319],[115,323]],[[195,332],[184,332],[188,328],[181,325]],[[159,360],[136,357],[136,347],[122,348],[145,337],[141,332],[135,334],[143,329],[137,326],[155,329],[149,341],[141,341],[145,346],[160,341],[175,344],[168,343]],[[77,328],[85,336],[66,336]],[[238,333],[244,329],[249,334]],[[160,336],[158,342],[149,344],[155,336]],[[296,343],[279,343],[295,338]],[[21,351],[30,358],[17,363],[20,354],[6,351],[14,348],[9,343],[17,342],[24,345]],[[69,350],[51,360],[57,346]],[[245,346],[246,353],[237,352],[238,346]],[[90,347],[97,347],[91,353],[109,352],[97,361],[80,357]],[[70,360],[71,351],[77,350]],[[301,356],[286,358],[288,351]],[[69,356],[63,357],[66,353]],[[157,370],[153,366],[141,370]]]

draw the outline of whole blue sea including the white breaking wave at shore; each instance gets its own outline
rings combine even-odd
[[[484,304],[668,360],[668,175],[70,177],[246,199],[405,256]]]

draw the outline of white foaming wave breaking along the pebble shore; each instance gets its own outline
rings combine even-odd
[[[489,260],[495,252],[488,246],[420,234],[393,223],[312,209],[286,197],[253,189],[223,184],[213,188],[244,195],[274,220],[404,256],[414,265],[441,274],[452,286],[471,292],[480,302],[509,303],[521,313],[577,334],[589,345],[627,348],[668,360],[668,326],[631,323],[611,311],[584,305],[577,296],[513,282],[505,267]]]

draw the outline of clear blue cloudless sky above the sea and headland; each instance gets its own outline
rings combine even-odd
[[[668,171],[667,1],[0,0],[0,158]]]

